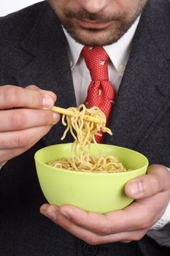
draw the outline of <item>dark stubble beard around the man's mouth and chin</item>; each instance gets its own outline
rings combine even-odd
[[[120,37],[123,37],[128,29],[133,25],[136,18],[142,12],[144,6],[147,4],[148,0],[140,1],[139,4],[134,8],[134,15],[131,18],[125,18],[125,13],[116,13],[114,16],[105,16],[99,13],[91,14],[86,10],[81,10],[80,12],[73,12],[71,10],[64,9],[64,14],[53,4],[53,0],[49,0],[51,7],[53,8],[55,14],[58,16],[59,20],[66,31],[74,38],[75,41],[82,45],[88,45],[91,47],[111,45],[117,42]],[[104,29],[91,29],[77,27],[75,20],[92,20],[101,23],[111,22],[112,26],[108,26]]]

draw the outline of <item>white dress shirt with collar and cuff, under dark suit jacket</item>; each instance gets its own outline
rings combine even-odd
[[[140,18],[140,17],[139,17]],[[112,45],[104,46],[104,49],[109,55],[109,80],[117,92],[123,78],[123,72],[128,62],[131,53],[131,42],[134,38],[136,27],[139,23],[139,18],[130,29],[117,42]],[[84,45],[75,42],[74,39],[63,28],[64,34],[68,42],[68,54],[70,59],[70,66],[72,69],[72,78],[74,83],[74,91],[77,101],[77,106],[81,105],[87,96],[88,86],[90,84],[90,72],[86,67],[85,61],[81,56],[81,51]],[[147,233],[161,246],[170,246],[170,238],[166,232],[163,233],[163,227],[170,222],[170,203],[163,214],[163,217],[158,220]],[[162,230],[161,230],[162,229]],[[162,234],[162,236],[161,236]]]

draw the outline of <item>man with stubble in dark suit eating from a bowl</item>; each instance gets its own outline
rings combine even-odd
[[[1,18],[1,255],[166,253],[169,7],[168,0],[51,0],[50,5],[45,1]],[[125,186],[134,203],[108,214],[49,206],[34,167],[39,148],[60,143],[63,127],[58,114],[50,111],[56,95],[56,104],[63,108],[85,99],[82,92],[87,92],[88,84],[81,90],[76,85],[77,79],[85,83],[79,72],[85,63],[81,54],[74,54],[83,45],[107,45],[104,48],[111,51],[123,46],[113,55],[117,59],[124,52],[121,71],[110,63],[115,73],[110,79],[117,78],[113,80],[117,99],[109,121],[114,136],[106,136],[104,143],[133,148],[150,161],[147,176]],[[70,136],[65,142],[69,141]],[[40,206],[48,218],[39,214]],[[144,236],[148,230],[161,246]]]

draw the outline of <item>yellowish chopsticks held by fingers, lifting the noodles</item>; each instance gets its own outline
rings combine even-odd
[[[63,115],[74,116],[74,112],[72,110],[69,110],[69,109],[66,109],[66,108],[59,108],[59,107],[54,106],[51,110],[53,112],[57,112],[57,113],[60,113],[60,114],[63,114]],[[85,121],[90,121],[90,122],[93,122],[93,123],[96,123],[96,124],[100,124],[101,122],[105,122],[105,120],[101,120],[99,118],[96,118],[96,117],[93,117],[93,116],[87,116],[87,115],[85,115],[83,117],[83,119]]]

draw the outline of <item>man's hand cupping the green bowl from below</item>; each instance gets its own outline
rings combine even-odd
[[[136,241],[166,210],[170,200],[169,170],[163,165],[150,165],[147,175],[125,185],[125,193],[134,198],[134,202],[123,210],[107,214],[48,204],[44,204],[40,212],[88,244]]]

